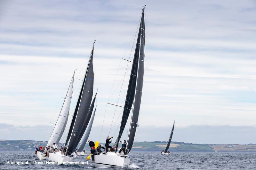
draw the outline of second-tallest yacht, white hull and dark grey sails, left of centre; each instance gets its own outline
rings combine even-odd
[[[95,42],[94,42],[95,43]],[[82,87],[79,93],[79,97],[76,102],[76,109],[74,111],[72,121],[69,127],[68,136],[65,142],[65,146],[67,146],[67,151],[63,154],[61,151],[56,153],[49,153],[49,156],[46,157],[46,160],[53,161],[53,162],[65,162],[65,161],[72,161],[72,153],[75,151],[77,146],[77,141],[79,140],[80,133],[84,133],[83,129],[85,130],[89,122],[91,115],[89,111],[90,104],[92,102],[92,94],[93,94],[93,50],[94,50],[94,43],[92,46],[92,51],[90,54],[90,58],[88,61],[87,69],[84,74],[84,79],[82,80]],[[96,97],[96,95],[95,95]],[[92,105],[92,104],[91,104]],[[94,105],[94,103],[93,103]],[[93,107],[92,107],[93,109]],[[86,114],[87,113],[87,114]],[[86,119],[89,119],[88,121]]]

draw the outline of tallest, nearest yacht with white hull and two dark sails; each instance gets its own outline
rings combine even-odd
[[[144,44],[145,44],[145,23],[144,23],[144,8],[142,9],[141,19],[140,19],[140,28],[134,53],[134,58],[132,62],[132,70],[130,74],[129,85],[126,94],[126,100],[124,104],[124,111],[122,120],[120,123],[120,130],[116,140],[116,148],[118,148],[118,142],[122,136],[125,125],[127,123],[128,116],[132,109],[132,119],[130,125],[130,131],[128,136],[128,141],[126,145],[125,153],[122,151],[119,153],[117,149],[115,152],[101,152],[100,154],[94,155],[94,161],[92,161],[92,156],[90,160],[92,161],[95,167],[100,166],[127,166],[130,164],[130,155],[129,152],[132,149],[136,129],[138,127],[138,117],[140,111],[140,102],[142,95],[143,87],[143,76],[144,76]]]

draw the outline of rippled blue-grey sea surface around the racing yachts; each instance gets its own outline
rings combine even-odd
[[[159,152],[132,152],[131,165],[126,168],[107,169],[256,169],[256,153],[245,152],[172,152],[161,155]],[[29,161],[30,165],[6,165],[6,161]],[[1,151],[0,169],[86,169],[89,165],[34,165],[37,160],[33,151]],[[86,161],[85,156],[74,161]],[[96,169],[96,168],[95,168]],[[106,168],[102,168],[106,169]]]

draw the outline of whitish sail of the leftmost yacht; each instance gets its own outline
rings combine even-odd
[[[75,76],[75,71],[72,76],[71,82],[69,84],[68,92],[66,94],[65,100],[64,100],[62,108],[60,110],[58,120],[55,124],[55,127],[52,131],[52,135],[51,135],[46,146],[52,146],[53,143],[58,143],[60,141],[58,139],[60,139],[61,136],[63,135],[62,130],[63,130],[63,128],[65,129],[67,120],[68,120],[69,107],[70,107],[72,93],[73,93],[74,76]]]

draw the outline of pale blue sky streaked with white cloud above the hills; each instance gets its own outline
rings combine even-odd
[[[73,114],[78,79],[96,40],[94,93],[97,88],[99,93],[92,130],[99,138],[115,138],[122,108],[115,112],[106,103],[124,105],[131,63],[121,58],[133,59],[143,5],[145,71],[137,140],[167,140],[175,120],[174,141],[255,143],[253,130],[244,130],[256,128],[256,2],[250,0],[0,1],[0,123],[18,132],[41,126],[47,138],[42,127],[56,122],[77,69]],[[0,135],[7,137],[16,139]]]

